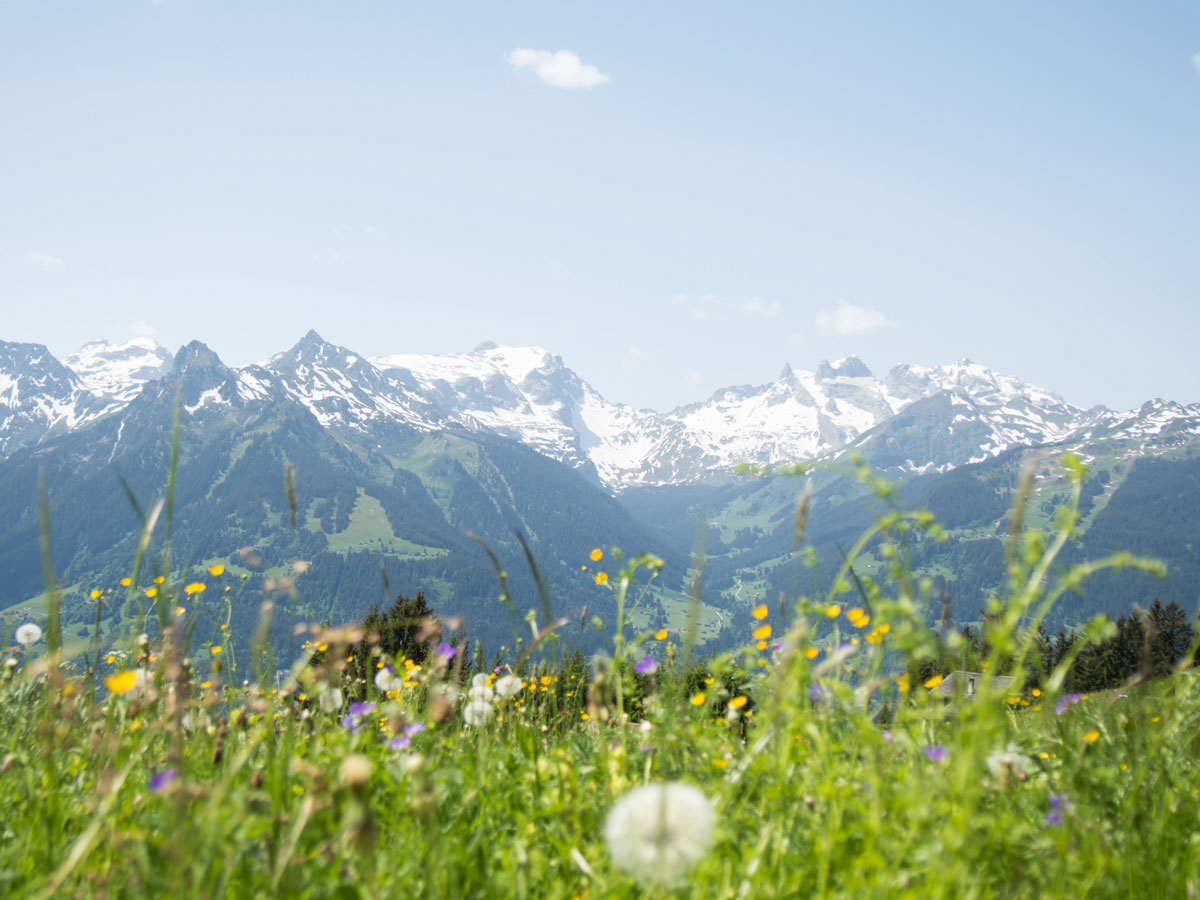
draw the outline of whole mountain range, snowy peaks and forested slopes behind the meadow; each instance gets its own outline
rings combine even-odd
[[[439,611],[464,614],[490,648],[528,640],[496,616],[496,572],[470,532],[511,576],[521,612],[545,589],[556,616],[581,617],[572,642],[594,649],[606,638],[583,629],[582,616],[605,612],[611,598],[580,572],[589,550],[660,553],[664,575],[638,622],[678,630],[691,545],[706,532],[701,636],[733,640],[731,613],[811,578],[797,568],[799,485],[746,479],[733,467],[829,462],[809,482],[806,540],[836,562],[876,515],[863,486],[836,474],[851,455],[950,527],[950,550],[916,546],[913,559],[956,619],[977,617],[1003,580],[1000,548],[1021,469],[1038,472],[1032,524],[1046,524],[1066,498],[1056,463],[1064,450],[1098,473],[1073,552],[1110,552],[1133,535],[1130,548],[1163,556],[1178,574],[1156,590],[1189,606],[1200,577],[1189,505],[1200,404],[1082,409],[967,360],[899,365],[880,378],[851,356],[815,372],[785,366],[769,384],[660,413],[607,401],[538,347],[368,359],[310,331],[241,367],[198,342],[170,354],[148,338],[97,341],[61,361],[41,344],[0,342],[0,613],[37,614],[41,475],[67,620],[77,638],[94,635],[88,590],[115,583],[136,544],[137,518],[116,475],[143,505],[162,492],[176,397],[173,558],[222,563],[247,577],[252,596],[304,560],[282,604],[289,620],[355,618],[388,592],[421,589]],[[1152,521],[1144,510],[1154,510]],[[880,564],[864,557],[863,565]],[[1102,582],[1093,599],[1061,620],[1148,600],[1121,577]],[[935,606],[931,599],[931,616]],[[250,617],[240,622],[246,634],[251,610],[235,614]],[[128,602],[106,608],[106,638],[116,640],[136,612]],[[281,650],[286,624],[275,635]]]

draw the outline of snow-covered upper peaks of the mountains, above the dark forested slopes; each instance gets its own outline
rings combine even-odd
[[[194,342],[185,352],[211,354]],[[40,344],[0,343],[0,455],[119,412],[172,365],[170,354],[145,338],[90,343],[67,361]],[[380,445],[389,425],[487,431],[617,492],[720,478],[739,462],[814,460],[846,449],[883,468],[928,472],[1019,445],[1162,443],[1200,433],[1200,406],[1084,410],[970,360],[899,365],[883,378],[854,356],[822,361],[815,372],[785,366],[769,384],[725,388],[665,413],[607,401],[541,347],[485,343],[470,353],[366,359],[310,331],[262,365],[223,371],[220,386],[185,397],[188,413],[286,396],[325,428],[370,433]]]

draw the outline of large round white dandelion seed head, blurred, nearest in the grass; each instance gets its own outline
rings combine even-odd
[[[638,881],[672,884],[708,852],[715,820],[698,788],[678,781],[646,785],[610,810],[604,836],[618,869]]]

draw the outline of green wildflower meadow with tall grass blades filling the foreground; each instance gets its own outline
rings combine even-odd
[[[532,653],[473,672],[431,623],[424,658],[374,649],[358,684],[354,626],[310,628],[280,679],[230,678],[251,666],[234,667],[228,632],[190,646],[172,607],[240,602],[232,574],[166,578],[154,636],[94,658],[95,677],[40,646],[6,664],[0,895],[1194,896],[1195,647],[1120,691],[1063,695],[1068,661],[1028,686],[1032,628],[1062,590],[1153,566],[1118,554],[1055,574],[1076,514],[1045,535],[1020,511],[985,623],[1020,688],[984,670],[950,703],[917,676],[943,642],[904,566],[906,535],[938,529],[899,510],[824,594],[738,613],[744,646],[706,660],[626,624],[656,560],[612,550],[581,560],[612,592],[608,658],[553,664],[542,622]],[[869,546],[887,572],[856,582]],[[520,689],[502,696],[509,667]],[[677,782],[708,812],[676,820],[666,794],[641,810],[635,794],[610,821],[635,788]]]

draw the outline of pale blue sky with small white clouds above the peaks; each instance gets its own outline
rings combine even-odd
[[[0,0],[0,338],[1193,402],[1198,161],[1193,0]]]

